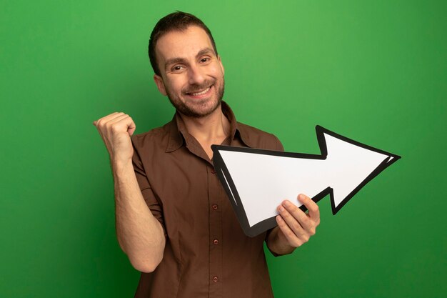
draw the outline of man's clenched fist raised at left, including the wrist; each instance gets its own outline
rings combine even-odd
[[[134,154],[131,135],[136,129],[134,120],[124,113],[112,113],[93,122],[106,144],[111,162],[129,162]]]

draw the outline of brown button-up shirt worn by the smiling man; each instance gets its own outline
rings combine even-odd
[[[266,132],[231,123],[223,144],[283,150]],[[213,163],[176,114],[168,124],[132,137],[141,193],[166,235],[164,257],[142,273],[135,297],[273,297],[263,251],[266,232],[246,237]]]

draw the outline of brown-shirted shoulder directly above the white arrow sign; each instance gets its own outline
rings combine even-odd
[[[271,133],[237,122],[238,131],[244,143],[252,148],[283,151],[281,141]]]

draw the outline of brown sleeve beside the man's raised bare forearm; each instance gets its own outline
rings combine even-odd
[[[154,217],[160,222],[161,227],[163,227],[164,234],[166,235],[166,228],[164,226],[163,209],[158,199],[156,199],[154,192],[152,192],[151,184],[149,184],[146,171],[144,170],[143,162],[141,162],[141,157],[139,154],[138,139],[136,136],[132,136],[132,145],[134,146],[134,156],[132,157],[132,165],[134,166],[134,172],[136,176],[136,181],[139,184],[141,194],[143,195],[144,201],[151,210]]]

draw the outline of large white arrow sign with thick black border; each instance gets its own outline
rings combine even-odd
[[[316,126],[316,134],[321,155],[212,146],[214,167],[246,235],[254,237],[275,227],[276,207],[298,194],[315,202],[330,194],[336,214],[366,183],[401,158],[321,126]]]

